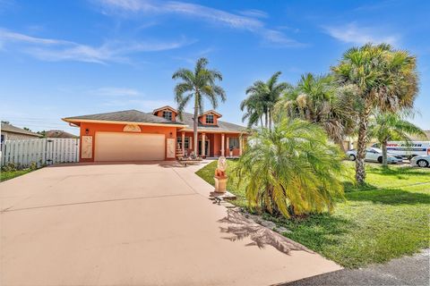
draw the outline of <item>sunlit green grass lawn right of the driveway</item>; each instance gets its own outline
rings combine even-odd
[[[353,173],[353,162],[345,162]],[[246,206],[245,189],[237,186],[228,160],[228,190],[237,206]],[[213,162],[197,172],[213,184]],[[345,267],[383,263],[430,246],[430,168],[367,164],[367,186],[357,188],[345,180],[346,201],[333,214],[314,214],[301,220],[266,219],[287,227],[284,233],[306,247]]]

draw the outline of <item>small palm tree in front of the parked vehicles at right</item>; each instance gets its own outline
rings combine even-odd
[[[369,124],[369,137],[378,139],[383,149],[383,166],[387,166],[388,141],[405,141],[409,143],[409,136],[417,135],[426,139],[426,133],[417,125],[404,120],[399,114],[376,114]]]

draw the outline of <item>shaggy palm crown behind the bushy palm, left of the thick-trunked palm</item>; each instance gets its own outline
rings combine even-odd
[[[295,88],[288,89],[276,105],[279,116],[300,118],[321,125],[331,140],[343,148],[343,140],[355,125],[353,97],[348,88],[339,88],[332,75],[301,76]]]

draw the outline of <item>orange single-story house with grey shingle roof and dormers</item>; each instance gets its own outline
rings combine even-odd
[[[219,121],[211,110],[198,118],[201,156],[240,156],[245,127]],[[81,162],[175,160],[193,151],[193,114],[164,106],[152,113],[126,110],[63,118],[80,128]]]

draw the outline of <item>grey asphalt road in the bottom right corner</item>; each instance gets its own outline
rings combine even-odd
[[[429,249],[413,257],[393,259],[388,264],[372,265],[364,269],[340,270],[306,278],[285,286],[309,285],[429,285]]]

